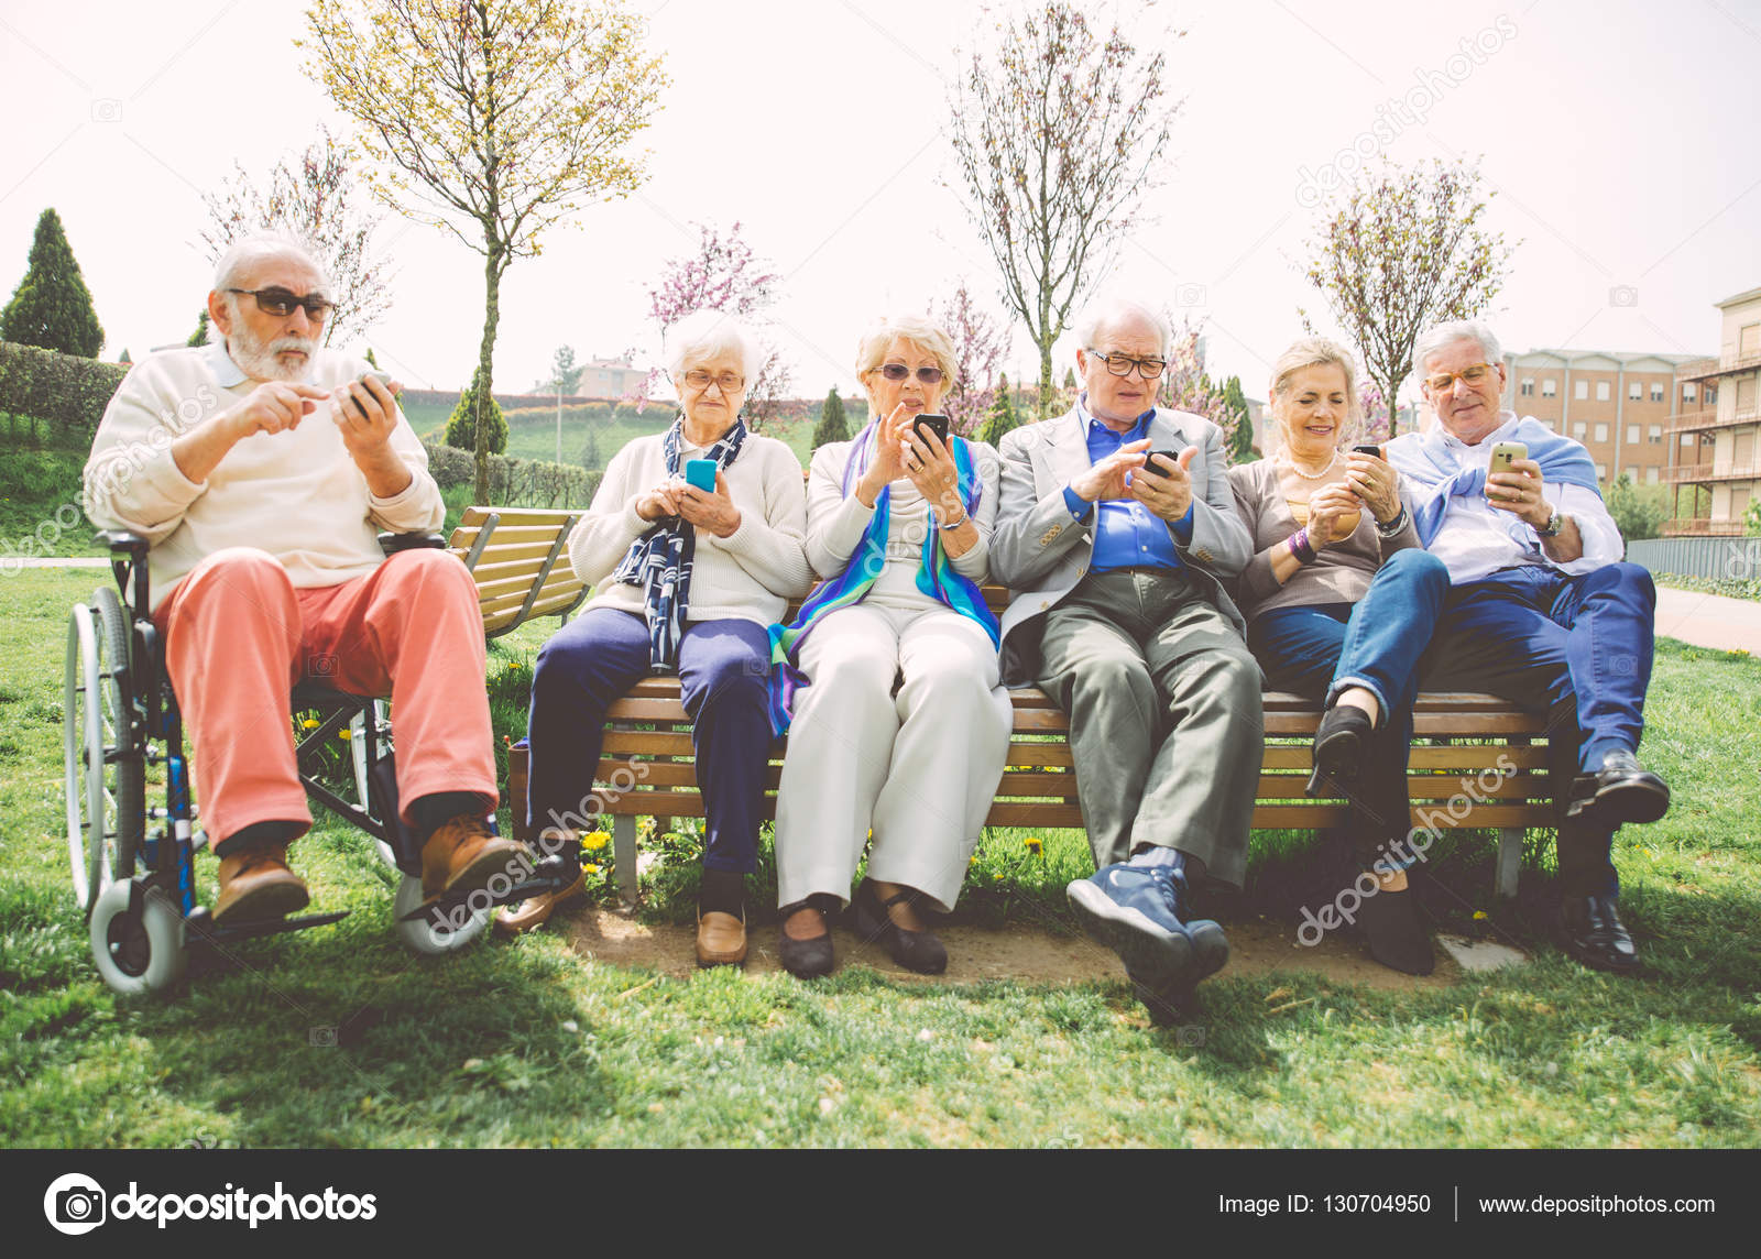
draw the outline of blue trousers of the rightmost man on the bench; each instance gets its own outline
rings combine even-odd
[[[1636,563],[1581,576],[1525,565],[1449,590],[1426,688],[1490,690],[1548,715],[1550,771],[1564,805],[1574,775],[1645,733],[1657,586]],[[1560,817],[1558,873],[1569,895],[1618,891],[1613,828]]]

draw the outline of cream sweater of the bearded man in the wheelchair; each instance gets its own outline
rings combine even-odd
[[[306,380],[331,387],[366,370],[361,359],[319,350]],[[185,477],[173,440],[255,387],[224,345],[174,349],[137,363],[104,412],[86,460],[86,514],[151,542],[153,607],[229,546],[268,551],[294,586],[335,586],[379,567],[379,530],[431,530],[446,519],[428,453],[402,412],[391,445],[412,475],[394,498],[366,488],[324,403],[294,430],[247,437],[208,481]]]

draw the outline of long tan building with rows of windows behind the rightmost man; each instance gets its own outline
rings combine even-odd
[[[1504,407],[1590,451],[1595,477],[1664,484],[1676,370],[1689,354],[1539,349],[1504,356]]]

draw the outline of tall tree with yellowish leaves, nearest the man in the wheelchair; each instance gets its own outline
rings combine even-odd
[[[618,0],[313,0],[306,74],[359,125],[370,187],[483,254],[472,387],[493,396],[502,275],[586,202],[646,178],[630,141],[666,74]],[[479,502],[490,495],[477,424]]]

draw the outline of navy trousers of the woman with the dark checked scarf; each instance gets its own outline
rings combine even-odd
[[[527,738],[534,828],[578,826],[599,768],[606,710],[648,676],[648,623],[595,607],[556,630],[532,673]],[[706,870],[757,866],[764,766],[770,762],[770,636],[755,622],[689,622],[678,644],[680,697],[690,715],[697,785],[708,821]]]

